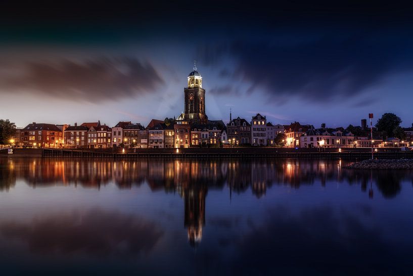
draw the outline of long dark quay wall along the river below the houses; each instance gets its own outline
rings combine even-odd
[[[9,157],[76,157],[76,158],[113,158],[113,159],[137,159],[137,158],[255,158],[255,157],[279,157],[279,158],[371,158],[372,152],[368,148],[326,148],[294,149],[294,148],[264,148],[264,147],[234,147],[234,148],[179,148],[179,149],[49,149],[28,148],[14,149],[13,154],[7,150],[0,151],[0,156]],[[400,151],[400,149],[378,149],[374,151],[376,159],[410,159],[412,151]]]

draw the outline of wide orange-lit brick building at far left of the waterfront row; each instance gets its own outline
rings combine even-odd
[[[25,146],[60,147],[63,143],[62,131],[53,124],[27,125],[20,132],[21,142]]]

